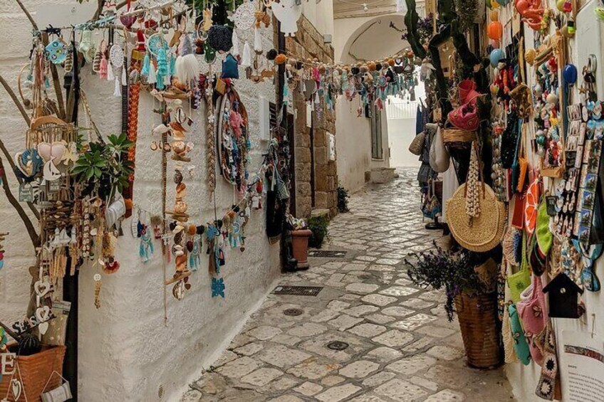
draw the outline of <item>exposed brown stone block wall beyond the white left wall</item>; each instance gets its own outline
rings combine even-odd
[[[289,55],[299,60],[316,58],[333,63],[333,48],[323,42],[323,34],[301,16],[298,32],[292,38],[286,38]],[[323,106],[323,105],[322,105]],[[335,161],[328,159],[327,133],[335,135],[335,111],[323,109],[321,114],[313,113],[313,149],[311,149],[311,129],[306,127],[306,101],[299,91],[293,92],[295,110],[295,178],[296,178],[296,214],[298,217],[311,216],[313,211],[311,194],[311,152],[314,153],[314,191],[315,209],[327,209],[330,216],[338,213],[338,173]]]

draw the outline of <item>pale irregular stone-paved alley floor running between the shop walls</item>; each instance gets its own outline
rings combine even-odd
[[[350,213],[330,223],[323,250],[343,257],[310,258],[308,271],[281,277],[321,292],[269,295],[183,402],[514,401],[502,369],[465,364],[444,293],[407,277],[407,253],[442,231],[424,228],[415,169],[399,174],[353,194]]]

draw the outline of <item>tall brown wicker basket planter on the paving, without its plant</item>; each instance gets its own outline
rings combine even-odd
[[[477,369],[491,369],[502,363],[499,342],[497,294],[469,295],[462,292],[455,297],[455,308],[462,330],[468,365]]]

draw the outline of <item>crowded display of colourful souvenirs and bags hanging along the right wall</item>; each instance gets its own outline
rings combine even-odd
[[[428,38],[417,32],[421,20],[413,5],[407,1],[405,38],[422,64],[431,65],[427,115],[438,131],[417,130],[410,152],[425,152],[430,174],[424,181],[446,181],[444,222],[454,244],[449,253],[496,261],[494,310],[501,334],[493,342],[502,340],[506,363],[541,366],[533,388],[538,397],[559,398],[553,328],[565,325],[563,317],[590,330],[585,315],[598,314],[588,302],[600,291],[604,243],[599,60],[591,45],[585,60],[577,58],[587,40],[576,38],[576,15],[584,5],[486,1],[482,48],[464,43],[453,23],[472,4],[437,1],[439,28]],[[457,42],[447,54],[442,44],[450,37]],[[420,181],[422,191],[425,186]],[[416,270],[434,265],[447,272],[457,258],[420,253],[410,276],[425,283]],[[465,347],[469,358],[472,345]]]

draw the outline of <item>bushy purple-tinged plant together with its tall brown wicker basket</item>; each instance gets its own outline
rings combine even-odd
[[[421,287],[442,289],[449,321],[459,318],[468,365],[488,369],[501,364],[500,322],[497,314],[497,265],[484,254],[468,250],[411,253],[407,275]]]

